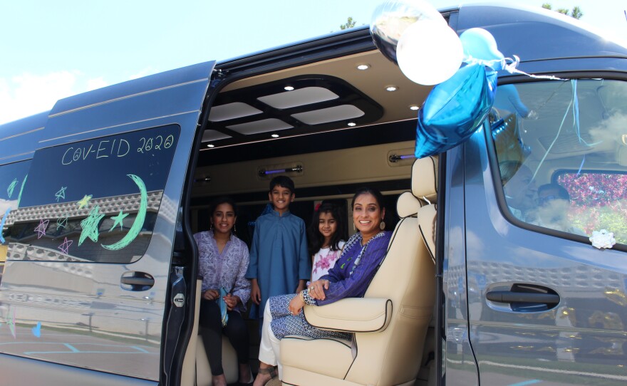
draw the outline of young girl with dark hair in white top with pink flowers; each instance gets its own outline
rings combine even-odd
[[[340,257],[346,234],[346,221],[336,204],[318,204],[309,226],[309,254],[312,256],[311,281],[326,275]]]

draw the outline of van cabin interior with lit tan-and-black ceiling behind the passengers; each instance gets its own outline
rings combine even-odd
[[[394,229],[396,199],[410,189],[417,110],[430,90],[408,80],[379,51],[227,83],[204,122],[190,202],[192,230],[208,229],[209,202],[226,194],[239,205],[237,235],[250,244],[254,220],[266,207],[268,184],[276,174],[294,179],[296,202],[290,210],[306,224],[317,202],[334,199],[344,208],[352,234],[350,199],[357,187],[368,185],[383,192],[391,214],[388,229]],[[257,324],[247,323],[256,366]],[[432,329],[428,335],[423,362],[435,350]],[[199,353],[199,382],[210,372],[198,363],[204,358],[202,340],[190,342]],[[227,380],[229,371],[237,376],[228,363],[224,371]],[[428,373],[421,370],[422,382]]]

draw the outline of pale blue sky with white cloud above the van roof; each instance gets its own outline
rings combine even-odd
[[[405,0],[411,2],[411,0]],[[485,1],[430,0],[436,8]],[[625,0],[501,0],[554,9],[627,40]],[[382,0],[0,0],[0,124],[56,100],[204,61],[369,25]]]

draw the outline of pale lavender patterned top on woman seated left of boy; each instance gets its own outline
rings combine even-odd
[[[242,299],[234,311],[246,311],[246,303],[250,298],[250,282],[245,277],[249,264],[246,243],[231,234],[231,239],[220,254],[213,231],[197,233],[194,239],[200,256],[198,266],[199,274],[202,275],[202,291],[224,287]]]

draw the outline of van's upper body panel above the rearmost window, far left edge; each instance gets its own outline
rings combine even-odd
[[[47,112],[0,125],[0,165],[32,158],[46,120]]]

